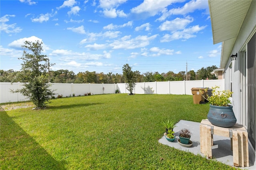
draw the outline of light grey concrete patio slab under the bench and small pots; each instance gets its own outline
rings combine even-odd
[[[181,120],[176,124],[177,127],[174,128],[176,140],[174,142],[168,142],[163,136],[160,138],[158,141],[162,144],[174,147],[179,150],[184,150],[187,152],[192,152],[193,154],[200,154],[201,156],[204,156],[200,152],[200,123],[198,122],[191,122],[191,121],[184,121]],[[191,147],[184,147],[181,146],[178,143],[178,132],[182,128],[188,128],[191,132],[191,138],[190,140],[193,142]],[[164,132],[164,130],[163,130]],[[212,156],[219,162],[222,162],[224,164],[234,166],[233,165],[233,152],[231,150],[231,145],[230,145],[230,138],[223,137],[223,136],[217,136],[213,135],[213,140],[214,140],[214,146],[212,146]],[[245,166],[239,167],[241,169],[246,169],[246,170],[256,170],[255,166],[255,154],[253,152],[253,149],[248,146],[249,148],[249,167]]]

